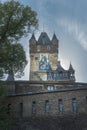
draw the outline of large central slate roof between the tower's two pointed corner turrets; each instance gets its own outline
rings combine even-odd
[[[47,45],[47,44],[50,44],[51,41],[47,35],[46,32],[42,32],[40,37],[38,38],[38,44],[43,44],[43,45]]]

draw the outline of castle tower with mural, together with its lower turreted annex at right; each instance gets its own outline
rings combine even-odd
[[[71,63],[69,69],[65,70],[58,61],[59,40],[55,33],[52,40],[46,32],[42,32],[38,40],[32,34],[29,42],[31,81],[75,81]]]

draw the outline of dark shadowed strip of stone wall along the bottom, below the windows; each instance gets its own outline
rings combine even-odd
[[[9,130],[87,130],[87,115],[14,118]]]

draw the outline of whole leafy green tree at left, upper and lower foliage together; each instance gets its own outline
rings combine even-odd
[[[3,73],[20,75],[27,63],[22,36],[38,26],[37,14],[29,6],[11,0],[0,2],[0,77]]]

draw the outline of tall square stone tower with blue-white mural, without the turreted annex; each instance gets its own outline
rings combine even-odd
[[[47,33],[42,32],[38,40],[33,34],[29,42],[30,80],[46,81],[47,73],[57,67],[58,39],[54,34],[50,40]]]

